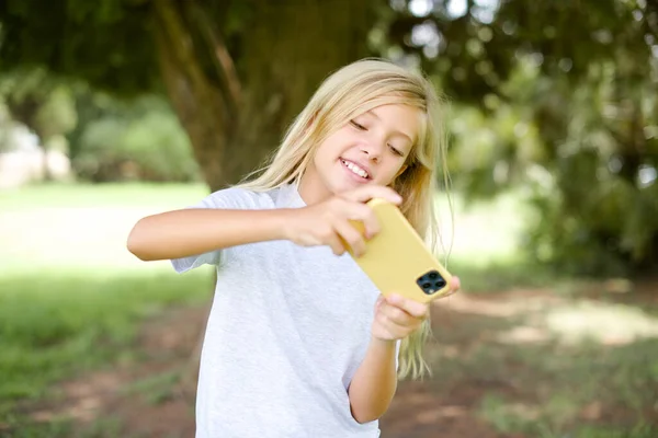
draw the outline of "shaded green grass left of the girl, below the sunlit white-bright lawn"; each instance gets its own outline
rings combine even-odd
[[[209,286],[202,273],[2,276],[0,400],[42,397],[73,370],[116,360],[116,351],[129,355],[140,321],[167,306],[200,302]]]

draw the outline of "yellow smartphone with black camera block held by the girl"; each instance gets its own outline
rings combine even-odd
[[[399,208],[378,198],[367,205],[375,212],[381,230],[365,241],[365,252],[361,256],[354,256],[350,246],[347,247],[382,295],[398,293],[424,303],[445,296],[450,291],[451,274],[430,252]],[[361,221],[352,223],[364,233]]]

